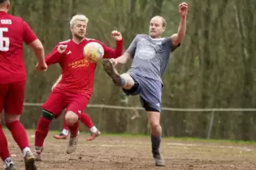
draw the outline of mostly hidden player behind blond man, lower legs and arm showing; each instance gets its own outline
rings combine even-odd
[[[54,87],[56,87],[56,85],[59,83],[59,81],[62,79],[62,75],[59,76],[59,79],[54,83],[53,87],[51,88],[51,90],[54,90]],[[91,120],[91,118],[89,117],[88,114],[86,113],[82,113],[80,116],[80,121],[82,121],[82,123],[90,130],[91,132],[91,136],[89,138],[87,138],[88,141],[92,141],[95,138],[98,137],[98,135],[101,134],[101,132],[97,129],[97,127],[95,125],[93,125],[93,121]],[[66,139],[68,137],[69,134],[69,130],[68,130],[68,126],[67,126],[67,121],[66,119],[63,120],[63,131],[60,134],[56,134],[54,135],[54,138],[57,139]]]

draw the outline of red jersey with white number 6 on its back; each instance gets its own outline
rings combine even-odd
[[[37,36],[23,19],[0,11],[0,83],[26,79],[23,42],[34,40]]]

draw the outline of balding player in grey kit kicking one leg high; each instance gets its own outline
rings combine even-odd
[[[161,37],[166,28],[166,21],[161,16],[150,20],[150,35],[139,34],[129,45],[127,51],[115,59],[103,61],[103,67],[115,85],[122,87],[126,95],[139,95],[150,123],[152,154],[156,166],[165,166],[159,147],[162,128],[160,125],[162,76],[166,70],[170,53],[180,46],[186,32],[188,4],[179,5],[180,26],[178,32],[169,37]],[[124,64],[132,58],[131,69],[119,74],[116,64]]]

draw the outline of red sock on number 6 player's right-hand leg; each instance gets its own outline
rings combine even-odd
[[[15,139],[15,142],[19,145],[21,151],[25,147],[29,147],[27,132],[24,129],[24,126],[21,125],[20,121],[12,121],[6,125],[8,130],[11,131],[12,138]]]

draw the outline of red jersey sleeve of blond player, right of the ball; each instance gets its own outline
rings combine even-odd
[[[111,49],[110,47],[104,45],[104,43],[99,42],[104,49],[104,58],[117,58],[123,53],[124,40],[116,40],[115,49]]]

